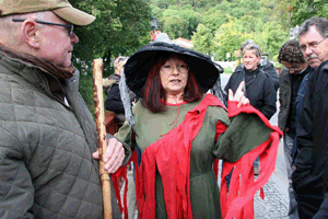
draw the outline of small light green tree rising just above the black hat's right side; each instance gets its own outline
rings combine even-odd
[[[197,32],[194,33],[191,37],[194,49],[202,54],[211,54],[213,35],[210,28],[206,27],[203,24],[199,24]]]

